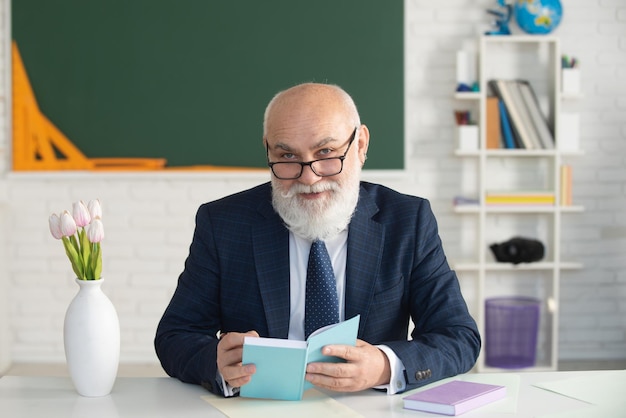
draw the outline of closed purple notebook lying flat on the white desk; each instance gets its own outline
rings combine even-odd
[[[453,380],[403,398],[405,409],[460,415],[506,397],[506,386]]]

